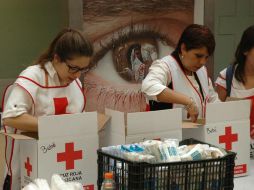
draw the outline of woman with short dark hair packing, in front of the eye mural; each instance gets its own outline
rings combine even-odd
[[[185,108],[183,119],[205,116],[208,102],[218,100],[204,66],[215,40],[208,27],[191,24],[183,31],[171,55],[153,62],[142,83],[150,110]]]

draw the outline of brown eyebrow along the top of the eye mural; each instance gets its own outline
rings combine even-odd
[[[129,15],[130,12],[141,14],[165,13],[169,11],[192,11],[194,0],[83,0],[85,21],[100,17]],[[125,13],[125,14],[123,14]],[[105,18],[104,18],[105,19]]]

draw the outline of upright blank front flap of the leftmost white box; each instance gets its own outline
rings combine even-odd
[[[98,131],[97,113],[42,116],[38,118],[39,139],[95,134]]]

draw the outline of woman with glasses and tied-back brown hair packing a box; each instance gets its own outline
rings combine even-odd
[[[79,77],[89,70],[92,55],[91,43],[79,31],[61,31],[35,65],[7,88],[2,115],[5,131],[36,132],[39,116],[83,112],[85,96]],[[9,138],[6,142],[8,173],[3,189],[20,190],[19,146]]]

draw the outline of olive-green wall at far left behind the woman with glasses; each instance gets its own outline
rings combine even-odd
[[[3,90],[69,26],[68,0],[12,0],[0,6],[0,108]],[[0,190],[3,181],[4,137],[0,135]]]

